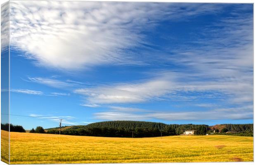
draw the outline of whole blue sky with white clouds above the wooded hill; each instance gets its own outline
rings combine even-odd
[[[10,122],[253,123],[253,5],[10,2]]]

